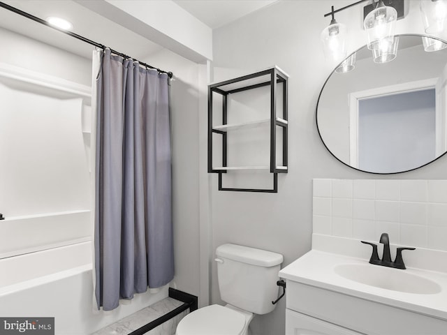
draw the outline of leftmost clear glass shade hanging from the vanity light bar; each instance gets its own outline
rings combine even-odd
[[[333,20],[321,31],[321,42],[328,61],[342,61],[346,57],[346,26]]]

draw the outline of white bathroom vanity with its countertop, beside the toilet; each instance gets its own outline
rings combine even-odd
[[[367,260],[310,251],[279,271],[287,287],[286,335],[447,335],[446,274],[371,265],[386,274],[377,277],[382,284],[426,276],[438,285],[414,293],[401,281],[390,290],[348,280],[336,273],[339,265],[369,267]]]

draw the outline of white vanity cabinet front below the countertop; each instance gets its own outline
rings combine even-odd
[[[446,320],[313,285],[286,284],[286,335],[447,334]]]

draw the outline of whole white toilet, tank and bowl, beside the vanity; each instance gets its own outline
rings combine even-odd
[[[267,314],[276,305],[278,272],[283,260],[248,246],[223,244],[216,249],[219,292],[226,306],[213,304],[180,320],[175,335],[248,335],[254,314]]]

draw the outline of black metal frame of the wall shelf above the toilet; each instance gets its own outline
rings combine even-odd
[[[281,97],[277,97],[277,84],[284,85]],[[217,133],[222,136],[222,165],[223,168],[227,167],[227,131],[226,129],[219,129],[219,126],[213,128],[213,93],[220,94],[222,96],[222,126],[227,125],[227,100],[230,94],[239,93],[251,89],[258,89],[259,87],[270,86],[270,173],[273,174],[273,186],[272,188],[226,188],[222,185],[222,174],[227,170],[212,167],[212,152],[213,152],[213,133]],[[277,98],[282,99],[282,117],[277,117]],[[208,85],[208,173],[219,174],[219,191],[242,191],[242,192],[264,192],[264,193],[277,193],[278,192],[278,173],[287,173],[288,164],[288,75],[284,73],[277,66],[262,70],[242,77],[237,77],[231,80],[223,82],[217,82]],[[233,126],[233,125],[232,125]],[[241,124],[239,129],[243,129],[244,126],[251,126],[251,123]],[[282,128],[282,162],[281,168],[278,168],[276,162],[277,154],[277,127]],[[222,128],[222,127],[220,127]],[[286,167],[286,168],[284,168]],[[247,170],[247,168],[244,168]],[[228,167],[228,170],[235,170]],[[256,170],[256,167],[254,167]]]

